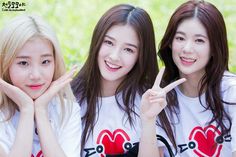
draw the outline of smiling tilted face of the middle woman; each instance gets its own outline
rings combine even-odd
[[[116,88],[134,67],[139,54],[137,33],[130,25],[111,27],[98,54],[102,84],[112,83]]]

